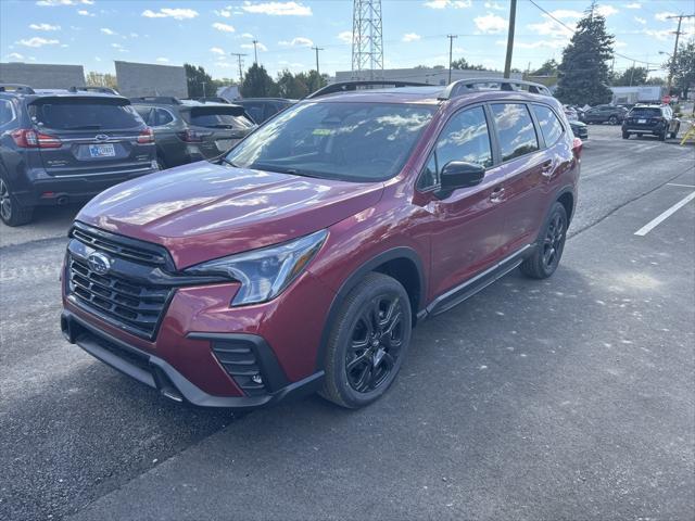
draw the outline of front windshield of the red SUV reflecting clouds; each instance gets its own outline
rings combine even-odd
[[[242,168],[355,181],[397,174],[434,107],[384,103],[301,103],[228,155]]]

